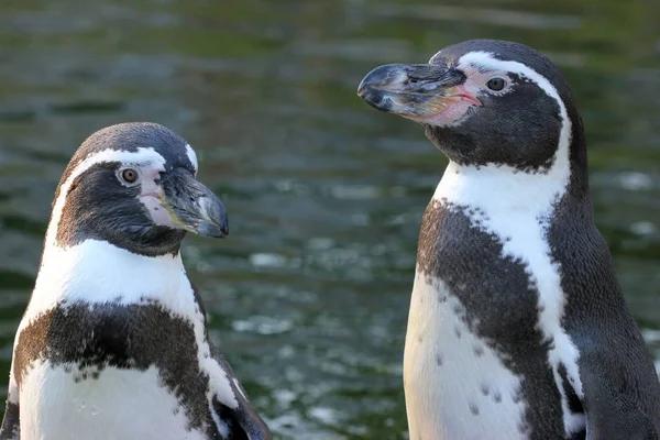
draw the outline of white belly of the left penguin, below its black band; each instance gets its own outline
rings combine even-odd
[[[21,386],[21,440],[205,440],[187,430],[186,416],[156,367],[107,367],[78,383],[62,365],[36,363]]]

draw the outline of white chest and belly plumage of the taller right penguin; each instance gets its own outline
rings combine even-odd
[[[433,249],[433,243],[438,235],[443,235],[452,238],[443,240],[444,245],[462,246],[464,251],[444,253],[446,257],[479,260],[476,257],[491,252],[487,254],[488,261],[497,258],[509,262],[509,267],[517,265],[518,271],[524,268],[527,280],[522,286],[518,283],[515,290],[491,294],[506,294],[506,304],[510,308],[517,307],[517,295],[534,295],[535,302],[531,306],[530,298],[525,298],[528,305],[526,317],[532,319],[531,326],[540,332],[542,341],[553,341],[543,367],[552,372],[553,387],[561,395],[562,425],[566,432],[572,432],[583,428],[584,418],[570,414],[559,367],[565,366],[575,393],[582,397],[578,370],[580,353],[561,326],[565,294],[561,288],[559,263],[552,258],[546,237],[554,202],[564,193],[568,179],[568,174],[563,172],[568,167],[561,166],[560,162],[558,158],[556,167],[547,175],[515,173],[506,167],[471,168],[450,164],[436,190],[435,204],[461,211],[462,216],[468,217],[472,232],[487,238],[488,242],[496,242],[501,250],[493,253],[496,246],[491,246],[491,251],[472,246],[470,234],[458,237],[451,228],[443,230],[435,224],[425,224],[427,244],[421,257],[432,257],[432,253],[438,251]],[[484,241],[479,243],[483,244]],[[438,264],[451,263],[446,260]],[[490,329],[497,328],[492,334],[506,331],[507,310],[513,309],[502,308],[503,304],[494,309],[491,301],[493,297],[484,296],[484,292],[490,292],[484,286],[490,284],[488,277],[506,278],[507,272],[484,276],[482,267],[472,266],[470,271],[454,274],[472,282],[472,290],[465,292],[468,296],[462,298],[480,298],[479,302],[472,301],[471,307],[479,309],[472,311],[480,312],[473,316],[488,317]],[[483,284],[475,284],[474,279],[481,279]],[[520,384],[525,378],[505,366],[502,360],[508,354],[494,352],[486,341],[470,331],[463,321],[464,305],[458,298],[448,292],[443,279],[438,279],[432,273],[417,273],[404,360],[410,438],[527,438],[529,427],[526,428],[525,424],[520,426],[525,411],[529,409],[525,408],[520,398]],[[516,360],[525,361],[524,355]]]

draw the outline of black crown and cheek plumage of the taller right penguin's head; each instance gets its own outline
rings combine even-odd
[[[498,61],[520,63],[544,77],[557,89],[573,125],[571,153],[583,154],[582,122],[571,89],[559,69],[541,53],[519,43],[472,40],[442,50],[431,63],[458,67],[462,56],[475,52],[487,53]],[[485,68],[475,67],[480,72]],[[482,92],[481,108],[472,109],[469,117],[454,127],[427,124],[427,136],[460,164],[505,164],[526,172],[548,169],[562,128],[559,103],[530,78],[517,74],[509,74],[508,78],[512,91],[501,96]]]

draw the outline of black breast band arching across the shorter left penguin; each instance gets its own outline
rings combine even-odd
[[[193,322],[158,302],[61,304],[20,332],[14,377],[21,388],[37,361],[63,366],[76,383],[99,378],[109,367],[144,372],[155,366],[189,428],[220,439],[209,409],[209,376],[199,365],[198,350]]]

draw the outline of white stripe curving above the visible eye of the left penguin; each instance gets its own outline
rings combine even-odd
[[[50,246],[56,246],[55,237],[57,235],[57,227],[59,226],[59,220],[62,219],[62,211],[66,204],[66,197],[68,191],[76,179],[76,177],[80,176],[82,173],[91,168],[94,165],[103,163],[103,162],[121,162],[121,163],[130,163],[136,166],[140,165],[152,165],[162,168],[165,170],[165,158],[161,156],[158,153],[154,151],[154,148],[138,148],[136,152],[129,152],[124,150],[105,150],[99,153],[92,154],[85,158],[82,162],[76,166],[74,172],[68,176],[66,182],[64,182],[59,188],[59,195],[57,200],[55,200],[55,205],[53,206],[53,213],[51,216],[51,222],[48,223],[48,229],[46,231],[46,241],[44,252],[47,251]]]

